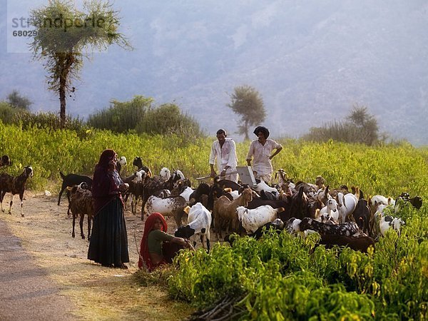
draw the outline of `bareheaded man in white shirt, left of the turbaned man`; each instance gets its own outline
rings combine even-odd
[[[217,141],[213,142],[210,153],[211,177],[217,176],[214,163],[217,161],[217,168],[220,172],[220,179],[233,180],[238,183],[238,173],[229,174],[236,171],[238,158],[236,157],[236,146],[232,138],[226,138],[228,133],[224,129],[217,131]]]

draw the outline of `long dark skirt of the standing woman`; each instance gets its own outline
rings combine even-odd
[[[113,198],[93,218],[88,259],[101,265],[129,262],[128,234],[121,200]]]

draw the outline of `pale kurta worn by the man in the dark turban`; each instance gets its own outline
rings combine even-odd
[[[256,178],[272,174],[272,161],[270,161],[269,156],[272,155],[272,151],[275,148],[281,147],[280,143],[277,143],[272,139],[267,139],[264,146],[259,143],[259,141],[251,142],[247,159],[251,160],[251,158],[254,158],[253,170],[257,172]]]

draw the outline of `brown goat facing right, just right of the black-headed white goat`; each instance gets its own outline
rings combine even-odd
[[[213,221],[215,228],[215,239],[222,238],[221,230],[225,227],[226,234],[229,233],[229,225],[232,225],[234,231],[238,231],[238,213],[236,209],[239,206],[248,206],[248,202],[253,200],[253,190],[244,188],[241,195],[235,200],[229,200],[225,195],[220,196],[214,201],[213,207]]]

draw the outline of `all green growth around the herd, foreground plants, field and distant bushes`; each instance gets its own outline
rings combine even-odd
[[[22,103],[16,93],[11,98]],[[10,101],[0,103],[0,118],[1,155],[12,161],[1,172],[19,175],[32,165],[28,188],[52,193],[59,191],[60,170],[92,175],[105,148],[126,156],[123,173],[132,173],[133,158],[141,156],[153,173],[164,166],[180,169],[195,187],[195,178],[208,173],[215,139],[178,106],[155,106],[143,96],[112,101],[87,122],[68,116],[63,129],[56,114],[34,114]],[[343,123],[312,128],[298,140],[278,139],[283,151],[273,159],[274,168],[295,182],[315,183],[322,175],[330,187],[358,186],[365,198],[395,198],[404,191],[422,197],[420,210],[405,206],[394,213],[406,225],[401,235],[391,231],[381,238],[374,253],[315,248],[315,235],[245,237],[233,247],[215,244],[209,254],[183,252],[165,270],[136,272],[135,282],[161,288],[192,311],[233,319],[426,320],[428,148],[387,143],[385,137],[367,108],[357,106]],[[240,164],[247,151],[247,142],[237,143]]]

